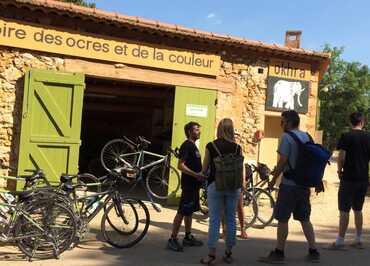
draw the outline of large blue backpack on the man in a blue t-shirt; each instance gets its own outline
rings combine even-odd
[[[284,177],[293,180],[299,186],[320,186],[331,153],[320,144],[315,144],[308,133],[310,140],[306,143],[303,143],[295,133],[291,131],[286,133],[297,143],[298,157],[294,169],[289,166],[290,169],[284,173]]]

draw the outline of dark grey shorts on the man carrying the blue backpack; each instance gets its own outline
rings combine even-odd
[[[289,221],[292,213],[294,220],[300,222],[310,220],[310,189],[282,184],[274,208],[274,218],[285,223]]]

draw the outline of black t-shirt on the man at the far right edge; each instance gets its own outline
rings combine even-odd
[[[370,134],[364,130],[351,130],[339,139],[338,150],[346,152],[343,181],[368,181],[370,160]]]

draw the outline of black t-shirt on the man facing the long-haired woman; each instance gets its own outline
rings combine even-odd
[[[179,160],[184,161],[185,165],[192,171],[199,173],[202,171],[202,160],[200,152],[193,142],[185,140],[179,151]],[[201,183],[193,176],[181,173],[181,189],[199,189]]]

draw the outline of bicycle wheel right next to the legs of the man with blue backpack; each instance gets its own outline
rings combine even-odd
[[[268,226],[274,219],[275,201],[268,191],[261,188],[255,188],[254,195],[258,206],[257,221],[261,223],[263,227]]]

